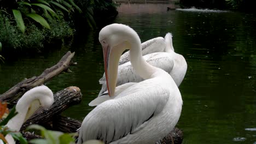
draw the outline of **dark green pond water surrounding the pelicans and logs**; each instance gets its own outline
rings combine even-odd
[[[256,143],[256,16],[230,11],[166,11],[167,4],[123,4],[114,22],[131,26],[142,41],[173,34],[173,46],[188,63],[179,87],[183,110],[177,127],[183,143]],[[137,9],[136,13],[134,12]],[[140,9],[140,10],[139,10]],[[103,74],[100,28],[74,38],[71,46],[7,61],[0,69],[0,93],[24,77],[39,75],[66,53],[76,66],[46,83],[54,92],[78,86],[83,101],[64,114],[82,121],[97,96]]]

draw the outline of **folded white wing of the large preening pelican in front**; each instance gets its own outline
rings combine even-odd
[[[142,82],[143,83],[143,82]],[[115,99],[104,101],[85,118],[78,143],[98,139],[109,143],[146,127],[167,103],[170,92],[148,83],[134,85]],[[128,95],[125,95],[129,92]]]

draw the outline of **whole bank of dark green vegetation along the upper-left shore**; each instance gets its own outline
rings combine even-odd
[[[94,29],[102,17],[118,14],[112,0],[3,0],[0,5],[0,63],[14,53],[70,41],[77,29]]]

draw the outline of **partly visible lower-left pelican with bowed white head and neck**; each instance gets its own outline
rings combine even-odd
[[[27,91],[16,104],[16,111],[18,114],[11,118],[5,125],[10,130],[20,131],[20,128],[24,122],[30,118],[39,107],[43,109],[49,109],[54,103],[54,96],[51,89],[46,86],[38,86]],[[9,144],[14,144],[15,141],[11,135],[6,135],[5,139]],[[2,141],[0,141],[2,143]]]

